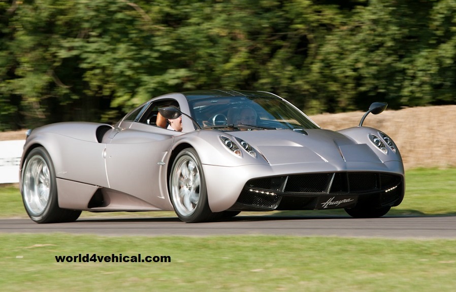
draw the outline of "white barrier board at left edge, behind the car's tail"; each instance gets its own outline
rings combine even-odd
[[[0,141],[0,184],[19,182],[19,163],[25,140]]]

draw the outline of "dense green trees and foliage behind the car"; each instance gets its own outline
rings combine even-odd
[[[455,103],[455,55],[454,0],[0,0],[0,130],[193,89],[310,114]]]

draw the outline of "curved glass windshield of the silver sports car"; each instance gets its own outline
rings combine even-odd
[[[191,100],[191,116],[202,128],[317,129],[298,109],[277,97],[223,97]]]

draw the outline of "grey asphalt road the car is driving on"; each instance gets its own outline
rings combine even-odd
[[[226,222],[186,224],[177,218],[89,218],[73,223],[36,224],[29,219],[0,220],[0,233],[96,234],[108,236],[295,235],[384,238],[453,238],[455,216],[242,216]]]

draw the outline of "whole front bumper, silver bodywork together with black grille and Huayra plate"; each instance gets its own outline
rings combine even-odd
[[[203,169],[213,212],[397,206],[405,192],[399,161]]]

